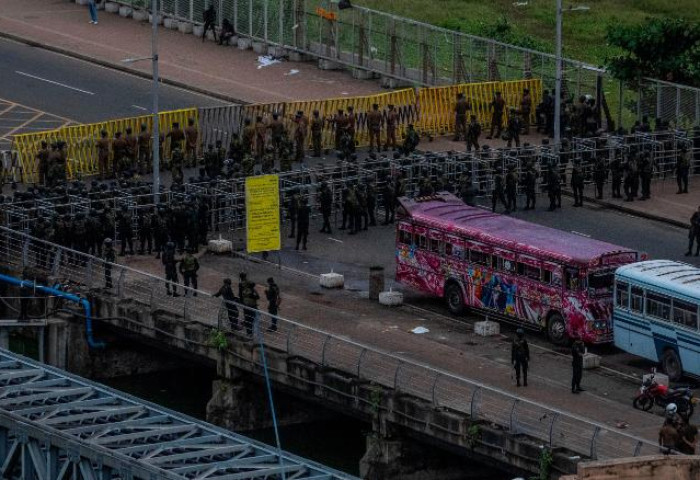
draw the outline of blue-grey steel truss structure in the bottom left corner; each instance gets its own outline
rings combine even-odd
[[[351,480],[0,350],[0,478]]]

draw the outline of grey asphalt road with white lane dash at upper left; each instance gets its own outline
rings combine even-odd
[[[151,81],[0,39],[0,97],[80,123],[147,114]],[[149,60],[144,60],[149,61]],[[161,85],[160,110],[224,102]]]

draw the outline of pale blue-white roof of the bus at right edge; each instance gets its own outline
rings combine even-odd
[[[664,288],[700,298],[700,268],[674,260],[647,260],[624,265],[615,271],[620,279]]]

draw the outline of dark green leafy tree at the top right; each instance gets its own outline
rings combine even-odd
[[[623,51],[608,57],[612,74],[636,85],[641,77],[700,86],[700,25],[669,18],[608,26],[608,44]]]

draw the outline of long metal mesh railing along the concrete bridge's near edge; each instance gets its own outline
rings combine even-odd
[[[202,324],[212,333],[219,331],[242,341],[240,330],[229,324],[227,303],[220,298],[178,286],[186,296],[166,295],[165,281],[123,265],[41,241],[29,235],[0,227],[0,259],[8,269],[24,271],[26,279],[58,281],[74,293],[116,296],[125,308],[167,312],[185,320],[183,342],[190,341],[187,324]],[[109,272],[112,287],[106,288]],[[230,304],[229,304],[230,305]],[[245,307],[234,303],[237,309]],[[487,422],[511,433],[523,434],[542,446],[565,448],[585,458],[610,459],[653,454],[654,442],[617,430],[593,419],[524,398],[369,345],[363,345],[331,332],[312,328],[299,321],[276,316],[277,330],[268,330],[272,316],[255,310],[255,340],[289,355],[328,367],[388,391],[418,398],[434,408],[467,415],[471,422]],[[237,318],[237,316],[236,316]],[[246,359],[261,372],[259,358]],[[297,379],[305,381],[304,379]],[[343,392],[336,394],[348,395]],[[353,400],[366,404],[377,401],[379,408],[390,408],[381,399],[368,399],[354,393]],[[456,426],[432,425],[455,435]]]

